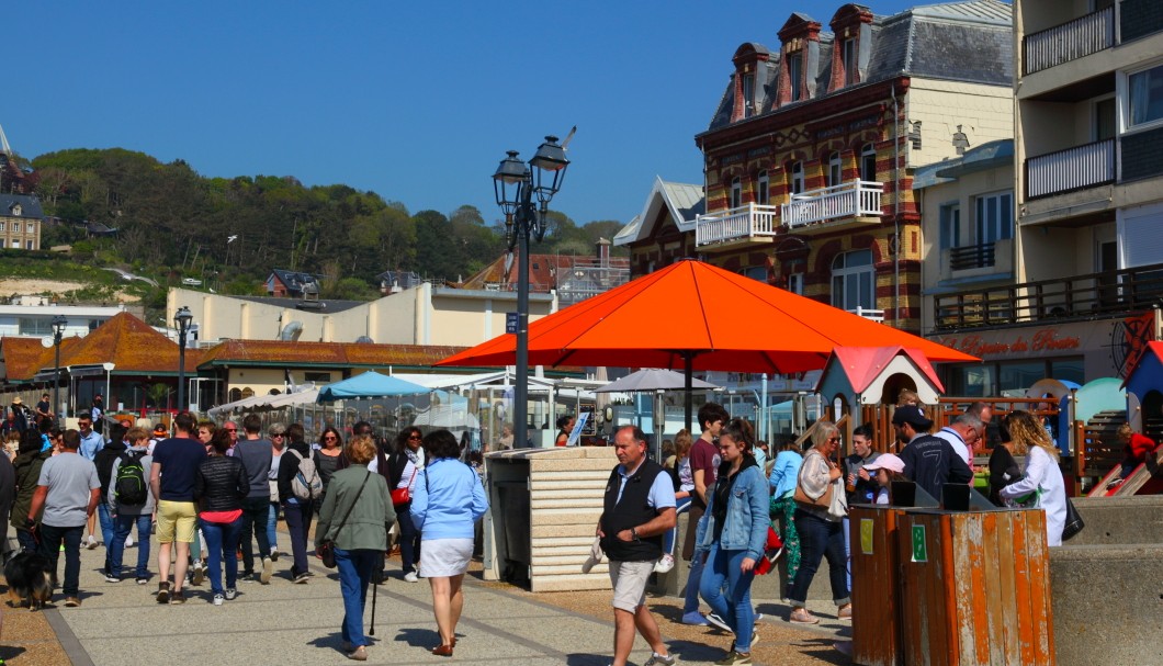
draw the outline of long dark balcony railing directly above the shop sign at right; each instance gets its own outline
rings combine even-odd
[[[1126,317],[1163,303],[1163,264],[933,299],[937,331]]]

